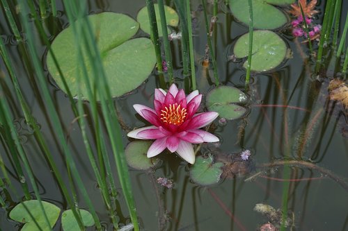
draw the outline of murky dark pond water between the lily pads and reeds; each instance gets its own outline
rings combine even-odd
[[[199,9],[201,1],[191,1],[191,9]],[[322,22],[323,9],[326,1],[319,3],[317,22]],[[134,19],[137,12],[145,6],[145,1],[89,1],[90,13],[112,11],[122,12]],[[212,6],[209,5],[209,9]],[[47,34],[50,40],[66,26],[68,19],[63,9],[63,3],[57,1],[58,17],[45,20]],[[342,28],[347,15],[348,2],[343,1]],[[212,10],[209,10],[211,12]],[[248,32],[248,28],[235,19],[230,11],[220,4],[218,22],[216,24],[216,62],[221,85],[230,85],[244,90],[246,71],[242,61],[229,61],[232,47],[238,37]],[[193,42],[196,55],[197,85],[200,93],[205,94],[214,88],[212,71],[208,72],[200,65],[205,53],[207,38],[203,12],[197,11],[194,26]],[[31,22],[33,24],[33,22]],[[33,67],[28,56],[25,56],[22,46],[14,42],[10,28],[4,15],[0,15],[1,39],[6,43],[6,48],[13,59],[19,85],[22,87],[26,101],[35,117],[40,130],[45,135],[49,144],[49,151],[54,156],[54,161],[63,173],[68,185],[65,161],[61,153],[61,146],[52,129],[52,121],[47,117],[47,108],[42,101],[42,94],[35,80]],[[35,28],[35,26],[33,26]],[[348,229],[348,194],[347,194],[347,113],[342,112],[340,103],[328,103],[329,79],[334,74],[325,70],[321,76],[313,75],[313,60],[303,59],[301,55],[308,53],[306,44],[294,40],[288,28],[280,28],[277,33],[286,41],[288,49],[292,51],[292,58],[287,59],[277,69],[266,74],[253,74],[248,96],[248,112],[241,119],[233,121],[219,121],[216,119],[210,131],[218,136],[219,144],[203,144],[198,154],[212,153],[216,157],[226,154],[239,153],[244,149],[251,151],[253,166],[234,178],[221,180],[211,186],[197,185],[190,179],[189,164],[177,155],[162,153],[159,155],[161,166],[153,172],[129,169],[132,178],[136,212],[141,222],[142,230],[255,230],[269,219],[255,212],[258,203],[271,205],[275,209],[282,207],[283,188],[290,183],[288,191],[287,209],[293,224],[289,230],[347,230]],[[139,36],[148,36],[139,32]],[[41,59],[45,60],[46,47],[40,40],[36,41],[36,48]],[[178,87],[184,88],[182,77],[182,62],[180,44],[177,40],[172,43],[173,65],[175,67],[175,80]],[[317,46],[314,45],[314,49]],[[8,75],[3,61],[0,62],[1,76]],[[136,67],[134,67],[136,68]],[[54,80],[47,74],[50,94],[52,94],[58,117],[61,120],[68,144],[77,162],[77,168],[88,195],[92,198],[93,205],[107,230],[112,230],[109,213],[104,207],[100,189],[90,168],[86,157],[84,141],[81,130],[74,120],[74,114],[67,96],[58,89]],[[326,78],[327,77],[327,78]],[[6,99],[12,102],[11,108],[13,121],[19,135],[29,153],[29,162],[40,186],[40,194],[47,200],[62,209],[67,208],[61,190],[58,187],[52,169],[49,168],[45,157],[33,136],[33,130],[26,125],[24,115],[19,103],[15,100],[12,85],[1,82],[6,92]],[[118,108],[123,128],[123,144],[128,144],[132,139],[127,138],[127,132],[133,128],[145,126],[144,121],[136,117],[132,105],[140,103],[152,107],[154,89],[159,86],[155,71],[148,80],[136,90],[114,99]],[[188,92],[187,92],[188,93]],[[287,105],[288,107],[285,107]],[[86,113],[89,113],[88,102],[84,103]],[[204,107],[202,105],[202,110]],[[89,136],[93,130],[89,130]],[[106,135],[106,132],[105,132]],[[15,187],[21,191],[18,179],[15,177],[14,166],[9,160],[10,153],[6,149],[1,137],[0,152],[10,179],[17,182]],[[92,144],[93,148],[95,144]],[[111,147],[109,148],[112,157]],[[297,160],[290,165],[290,179],[284,179],[284,164],[282,160],[290,158]],[[305,166],[302,161],[311,165]],[[270,163],[274,163],[272,166]],[[278,163],[278,164],[277,164]],[[268,164],[268,165],[267,165]],[[315,167],[316,166],[316,167]],[[115,169],[115,166],[111,166]],[[324,170],[323,170],[324,169]],[[327,171],[326,171],[327,170]],[[329,172],[328,172],[329,171]],[[117,178],[117,173],[115,177]],[[246,180],[254,176],[252,180]],[[330,174],[337,176],[333,179]],[[2,175],[0,175],[3,177]],[[157,184],[157,178],[173,180],[171,189]],[[116,182],[118,185],[118,182]],[[346,188],[345,188],[346,186]],[[32,190],[32,189],[30,189]],[[129,222],[129,214],[125,198],[120,192],[117,202],[117,211],[120,222]],[[0,229],[19,230],[20,225],[8,217],[10,209],[19,200],[7,193],[4,189],[1,196],[6,200],[6,208],[0,208]],[[19,195],[22,198],[24,195]],[[78,195],[79,197],[81,195]],[[80,207],[86,207],[81,200]],[[54,230],[61,230],[58,220]],[[88,228],[95,230],[95,228]]]

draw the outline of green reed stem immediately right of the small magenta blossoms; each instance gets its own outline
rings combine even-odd
[[[317,64],[315,65],[315,72],[318,72],[320,69],[320,66],[322,65],[322,55],[324,52],[324,44],[326,44],[326,41],[329,39],[329,33],[328,31],[331,31],[331,27],[329,27],[330,22],[330,16],[331,16],[331,9],[334,6],[335,0],[328,0],[326,2],[325,10],[324,10],[324,20],[322,24],[322,33],[320,35],[320,42],[319,42],[319,49],[317,54]]]

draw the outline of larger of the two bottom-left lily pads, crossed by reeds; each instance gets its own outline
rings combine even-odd
[[[25,223],[22,231],[39,230],[38,226],[35,224],[35,221],[38,223],[38,225],[40,225],[42,230],[51,230],[58,219],[61,209],[52,203],[48,203],[46,201],[41,202],[45,209],[45,214],[47,215],[50,227],[47,227],[45,215],[42,213],[38,200],[26,200],[16,205],[10,212],[10,219],[20,223]],[[33,219],[24,205],[30,211]]]

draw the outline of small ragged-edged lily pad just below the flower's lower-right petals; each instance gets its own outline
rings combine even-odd
[[[216,162],[213,164],[213,157],[197,157],[195,164],[190,169],[191,179],[199,185],[212,185],[220,180],[223,163]]]

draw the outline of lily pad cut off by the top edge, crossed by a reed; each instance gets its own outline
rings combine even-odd
[[[295,0],[252,0],[253,26],[273,30],[287,23],[286,15],[275,6],[294,3]],[[272,4],[272,5],[271,5]],[[246,0],[230,0],[232,14],[244,24],[249,24],[249,5]]]

